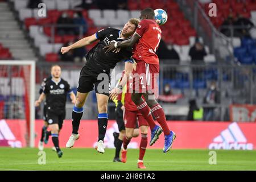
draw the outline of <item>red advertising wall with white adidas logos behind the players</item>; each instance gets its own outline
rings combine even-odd
[[[176,149],[256,150],[256,123],[170,121],[168,125],[177,134],[173,146]],[[36,120],[35,146],[38,146],[42,126],[43,121]],[[104,141],[106,148],[114,148],[114,131],[118,131],[117,124],[115,121],[109,121]],[[60,133],[60,147],[65,147],[71,132],[71,121],[66,120]],[[97,121],[82,120],[79,133],[80,139],[76,141],[75,147],[94,147],[98,136]],[[150,134],[148,136],[150,137]],[[25,139],[26,122],[23,120],[0,120],[0,146],[26,147]],[[129,147],[138,148],[140,140],[140,137],[134,138]],[[154,146],[148,146],[148,148],[163,148],[163,142],[164,138],[161,135],[158,142]],[[52,146],[50,139],[46,147]]]

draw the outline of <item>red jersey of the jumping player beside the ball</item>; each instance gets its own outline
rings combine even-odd
[[[155,52],[161,40],[162,30],[155,20],[141,20],[135,33],[141,39],[139,39],[139,42],[135,46],[134,59],[145,61],[148,64],[159,64],[158,55]]]

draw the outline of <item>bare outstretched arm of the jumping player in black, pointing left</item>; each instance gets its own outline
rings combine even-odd
[[[84,46],[88,46],[89,44],[92,44],[93,42],[95,42],[96,40],[98,40],[96,38],[96,34],[93,34],[91,36],[87,36],[86,38],[83,38],[75,43],[73,43],[70,46],[67,47],[61,47],[60,52],[62,54],[67,53],[69,50],[71,49],[75,49],[75,48],[79,48],[79,47],[84,47]]]

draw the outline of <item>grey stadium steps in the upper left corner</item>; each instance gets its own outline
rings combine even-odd
[[[9,48],[14,59],[38,60],[6,2],[0,3],[0,43]]]

